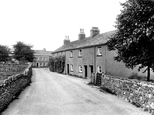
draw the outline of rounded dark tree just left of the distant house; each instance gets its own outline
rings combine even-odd
[[[34,51],[31,49],[32,46],[24,44],[23,42],[17,42],[13,45],[14,47],[14,58],[18,61],[28,61],[33,62],[34,60]]]

